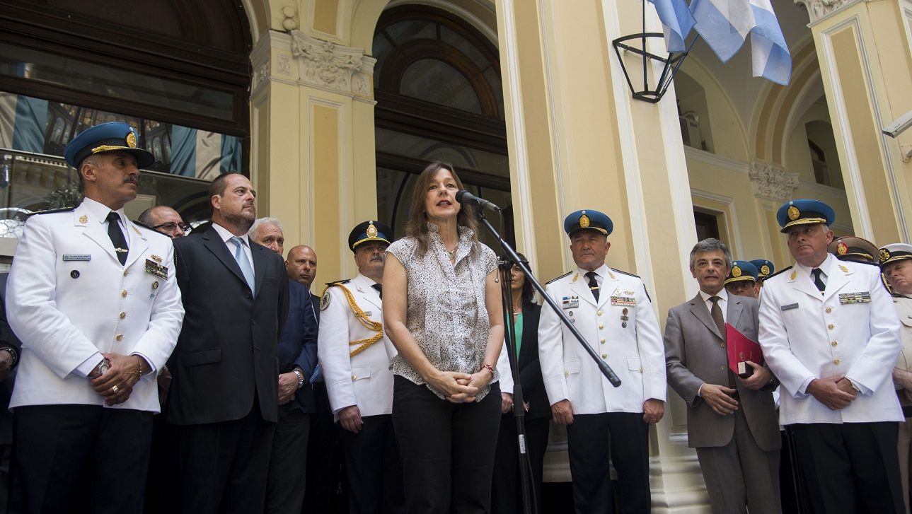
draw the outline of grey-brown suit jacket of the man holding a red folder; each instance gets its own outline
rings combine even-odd
[[[758,303],[753,298],[729,294],[726,323],[731,324],[752,341],[757,340]],[[668,311],[665,324],[665,360],[668,386],[688,403],[687,429],[690,447],[723,447],[734,434],[734,416],[720,416],[703,398],[697,395],[700,386],[727,386],[728,352],[719,327],[712,321],[709,309],[700,293],[689,302]],[[760,363],[758,363],[760,364]],[[737,382],[737,380],[736,380]],[[771,451],[782,447],[772,389],[764,386],[751,391],[737,382],[739,408],[747,418],[751,435],[757,445]]]

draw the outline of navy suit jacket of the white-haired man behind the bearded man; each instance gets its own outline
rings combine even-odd
[[[279,339],[279,373],[288,373],[298,366],[305,379],[310,379],[316,367],[316,317],[311,294],[303,284],[289,280],[288,301],[288,319]],[[297,390],[295,404],[306,413],[316,412],[310,384]]]

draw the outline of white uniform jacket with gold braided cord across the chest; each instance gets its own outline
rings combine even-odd
[[[373,287],[374,281],[358,273],[347,283],[330,287],[320,302],[320,331],[317,334],[316,357],[323,369],[329,406],[338,413],[347,406],[358,406],[361,416],[391,414],[393,407],[393,374],[389,371],[389,354],[395,347],[381,327],[383,337],[358,355],[350,356],[358,345],[349,343],[377,334],[358,321],[348,303],[346,288],[368,319],[383,323],[383,304]],[[328,296],[327,296],[328,295]],[[327,299],[328,298],[328,299]]]

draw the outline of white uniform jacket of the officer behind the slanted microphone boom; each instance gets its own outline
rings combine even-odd
[[[611,366],[621,386],[608,382],[557,314],[545,306],[538,325],[538,352],[548,401],[554,405],[570,400],[574,414],[643,412],[643,402],[665,401],[667,392],[665,347],[652,302],[639,277],[606,265],[596,272],[605,277],[597,303],[586,272],[580,269],[548,283],[545,292]]]

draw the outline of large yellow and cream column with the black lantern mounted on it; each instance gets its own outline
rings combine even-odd
[[[611,46],[642,32],[639,4],[498,0],[497,13],[517,244],[542,277],[556,276],[573,266],[566,214],[606,212],[615,222],[609,265],[644,279],[664,325],[668,308],[696,293],[696,231],[674,92],[658,104],[631,98]],[[661,32],[651,6],[648,24]],[[668,399],[651,434],[653,509],[708,510],[682,401]],[[565,444],[561,435],[552,432],[552,447]],[[565,453],[546,458],[546,475],[569,478]]]

